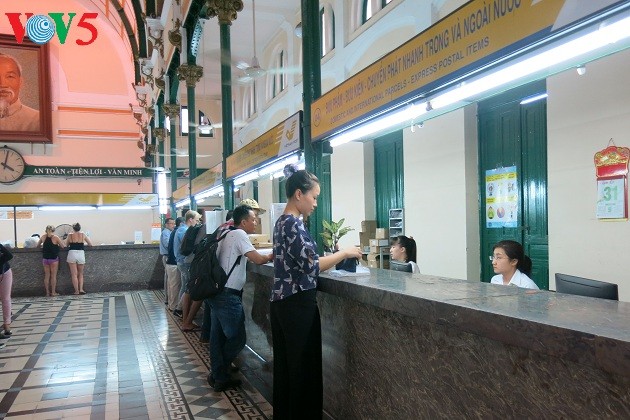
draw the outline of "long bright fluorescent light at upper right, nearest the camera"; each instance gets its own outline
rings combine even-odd
[[[502,85],[531,76],[549,67],[630,37],[630,17],[601,26],[557,47],[483,76],[431,99],[434,109],[443,108]],[[331,143],[332,144],[332,143]]]

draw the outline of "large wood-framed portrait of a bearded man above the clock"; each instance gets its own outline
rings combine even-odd
[[[0,35],[0,141],[52,142],[48,44]]]

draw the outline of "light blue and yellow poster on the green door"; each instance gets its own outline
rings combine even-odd
[[[486,171],[486,227],[518,226],[516,166]]]

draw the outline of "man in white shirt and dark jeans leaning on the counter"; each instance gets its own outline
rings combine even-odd
[[[225,288],[210,298],[212,327],[210,332],[210,366],[208,382],[215,391],[221,392],[241,384],[228,373],[234,358],[245,347],[245,312],[241,292],[246,280],[245,266],[248,260],[256,264],[271,262],[273,254],[259,254],[248,234],[256,231],[256,214],[249,206],[234,209],[234,228],[219,242],[219,263],[228,274]],[[231,273],[230,273],[231,271]]]

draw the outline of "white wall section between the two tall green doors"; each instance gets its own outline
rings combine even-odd
[[[416,240],[420,271],[466,279],[465,111],[403,133],[405,234]]]

